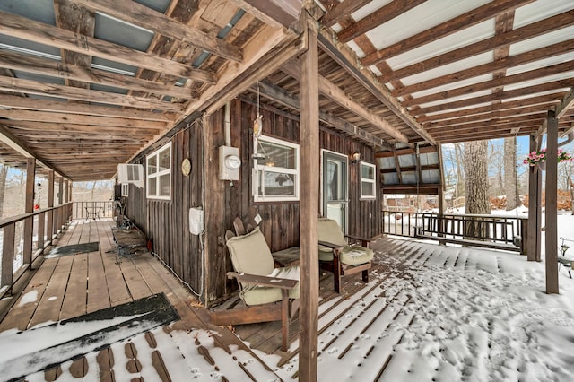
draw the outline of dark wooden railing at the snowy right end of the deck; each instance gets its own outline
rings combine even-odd
[[[383,233],[525,253],[526,218],[383,211]]]

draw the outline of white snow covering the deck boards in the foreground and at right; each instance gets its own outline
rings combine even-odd
[[[574,240],[572,227],[574,216],[559,216],[559,237]],[[336,305],[321,304],[319,381],[574,380],[574,280],[564,268],[561,294],[548,295],[544,262],[502,251],[393,240],[404,256],[390,253],[378,260],[392,273],[373,272],[364,292]],[[124,367],[125,344],[112,346],[118,354],[117,380],[159,380],[152,366],[158,348],[174,381],[235,381],[239,373],[245,376],[239,368],[257,381],[297,379],[297,356],[278,366],[278,356],[257,352],[257,359],[245,351],[223,351],[213,343],[213,332],[157,328],[152,335],[153,346],[144,334],[130,340],[141,362],[136,373]],[[297,346],[291,343],[291,349]],[[83,379],[98,380],[96,353],[86,359],[90,370]],[[69,364],[57,380],[74,380],[66,371]],[[43,378],[38,372],[28,380]]]

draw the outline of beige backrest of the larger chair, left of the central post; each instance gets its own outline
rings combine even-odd
[[[273,272],[273,256],[259,227],[246,235],[228,239],[227,247],[236,272],[260,276]]]

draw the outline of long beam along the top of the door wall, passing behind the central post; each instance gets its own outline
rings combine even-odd
[[[300,111],[300,101],[299,97],[294,94],[291,94],[288,91],[284,91],[279,86],[275,86],[269,82],[259,82],[259,91],[261,94],[270,99],[274,100],[275,102],[281,103],[283,106],[286,106],[290,109],[294,109]],[[342,118],[335,117],[330,113],[326,113],[319,109],[319,120],[326,125],[333,126],[337,130],[343,131],[345,134],[352,135],[353,137],[360,139],[361,141],[365,141],[372,146],[380,147],[380,148],[387,148],[389,147],[385,141],[381,138],[378,138],[375,135],[370,134],[369,132],[361,129],[361,127],[354,126],[351,123],[345,121]]]

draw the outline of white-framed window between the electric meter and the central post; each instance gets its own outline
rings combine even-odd
[[[299,144],[264,135],[255,142],[254,201],[299,200]]]

